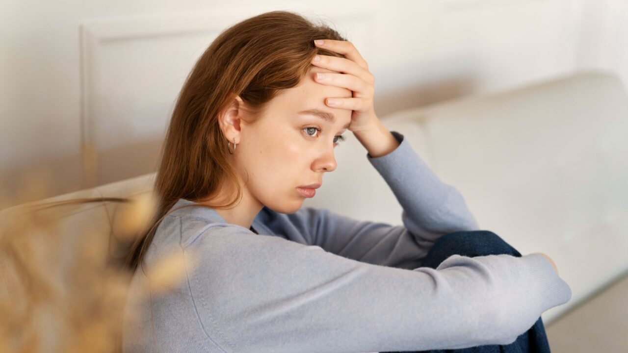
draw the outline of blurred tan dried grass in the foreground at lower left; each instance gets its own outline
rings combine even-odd
[[[42,185],[26,187],[37,192]],[[63,225],[64,207],[93,202],[117,206],[111,227]],[[0,212],[0,353],[120,352],[125,305],[147,298],[130,298],[133,273],[112,255],[147,229],[155,210],[156,198],[144,193]],[[185,278],[183,254],[166,256],[150,274],[155,291],[175,286]]]

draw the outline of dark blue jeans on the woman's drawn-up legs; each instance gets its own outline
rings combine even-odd
[[[521,258],[519,251],[510,246],[504,239],[490,231],[455,232],[440,237],[434,243],[421,264],[421,267],[437,268],[453,254],[461,256],[485,256],[510,254]],[[549,353],[549,342],[541,317],[534,325],[508,345],[478,345],[461,349],[435,349],[416,352],[389,353]],[[382,352],[383,353],[383,352]]]

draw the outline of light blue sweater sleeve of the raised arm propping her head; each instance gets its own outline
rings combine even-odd
[[[303,207],[288,218],[317,245],[333,254],[365,263],[416,268],[441,236],[477,230],[462,194],[418,156],[403,134],[391,131],[399,146],[367,159],[384,178],[403,209],[403,225],[352,219],[327,209]]]

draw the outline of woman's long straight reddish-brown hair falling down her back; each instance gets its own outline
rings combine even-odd
[[[325,24],[300,14],[271,11],[245,19],[222,31],[189,73],[176,100],[161,151],[154,194],[156,212],[148,230],[136,238],[125,266],[143,262],[161,220],[180,198],[202,201],[222,182],[232,185],[226,204],[187,205],[229,209],[242,197],[242,185],[227,160],[227,139],[219,115],[239,95],[250,116],[257,117],[282,89],[298,85],[317,54],[344,57],[314,45],[316,39],[346,40]]]

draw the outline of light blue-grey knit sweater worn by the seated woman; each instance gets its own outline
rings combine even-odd
[[[154,295],[139,307],[139,324],[126,322],[125,352],[359,353],[510,344],[541,313],[570,300],[569,286],[540,254],[453,255],[436,269],[420,267],[436,239],[478,225],[462,195],[440,181],[402,134],[392,133],[398,148],[366,158],[403,207],[403,225],[327,209],[279,214],[264,207],[252,224],[255,234],[213,209],[166,216],[148,248],[147,273],[171,251],[197,262],[176,293]],[[189,204],[181,198],[173,209]],[[131,291],[146,293],[142,271]]]

